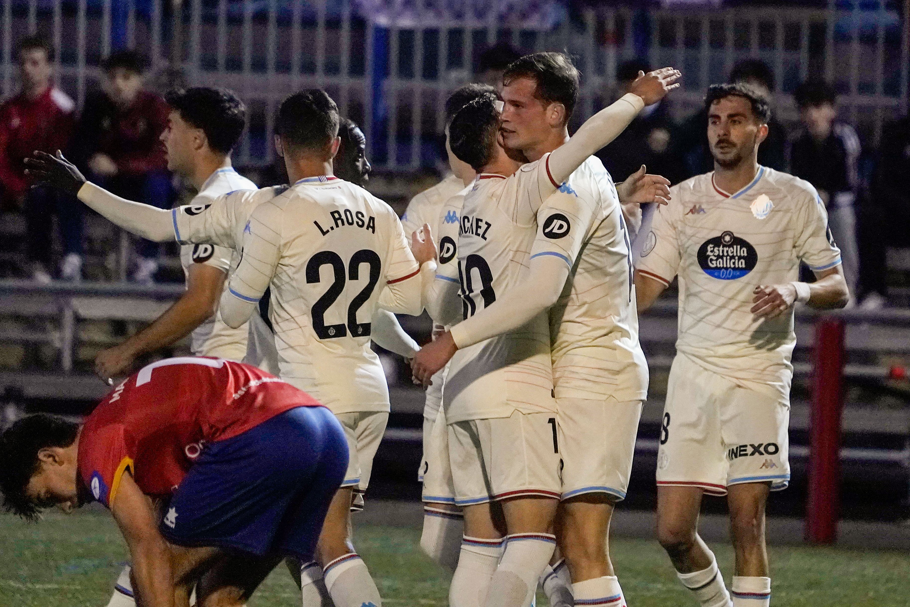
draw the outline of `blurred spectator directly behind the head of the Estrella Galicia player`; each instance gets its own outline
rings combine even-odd
[[[774,74],[760,59],[743,59],[733,66],[730,82],[746,82],[756,87],[769,101],[773,101]],[[772,107],[773,110],[773,107]],[[714,159],[708,149],[708,111],[700,110],[682,125],[682,153],[687,176],[702,175],[714,168]],[[786,168],[787,133],[772,111],[768,122],[768,137],[758,147],[758,164],[778,171]]]

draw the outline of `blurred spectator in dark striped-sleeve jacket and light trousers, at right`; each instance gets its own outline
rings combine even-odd
[[[859,186],[859,137],[852,126],[834,122],[837,93],[824,80],[806,80],[794,91],[802,129],[790,146],[790,173],[811,183],[828,209],[828,228],[841,249],[844,277],[852,295],[859,278],[854,202]]]

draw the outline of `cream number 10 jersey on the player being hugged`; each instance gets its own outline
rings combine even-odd
[[[533,204],[545,161],[524,165],[511,177],[480,175],[464,195],[459,217],[444,215],[442,232],[457,222],[457,248],[440,238],[440,264],[458,258],[462,317],[490,306],[497,293],[527,273],[537,232]],[[442,400],[446,421],[509,417],[515,411],[555,411],[550,335],[545,314],[520,329],[459,349],[450,361]]]

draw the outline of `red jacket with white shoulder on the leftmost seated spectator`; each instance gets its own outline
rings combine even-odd
[[[25,177],[26,157],[36,149],[48,154],[66,150],[75,106],[53,86],[35,99],[20,94],[0,106],[0,182],[8,200],[21,197],[31,185]]]

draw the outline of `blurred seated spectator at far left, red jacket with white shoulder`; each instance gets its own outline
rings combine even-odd
[[[0,106],[0,182],[4,207],[23,208],[28,230],[28,258],[32,275],[51,281],[51,219],[56,213],[63,240],[60,277],[82,276],[82,209],[49,187],[35,187],[25,176],[25,157],[34,150],[53,154],[66,149],[73,132],[73,100],[51,82],[54,47],[30,35],[19,41],[16,52],[22,92]]]

